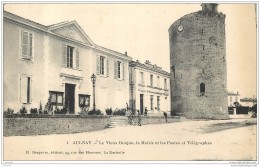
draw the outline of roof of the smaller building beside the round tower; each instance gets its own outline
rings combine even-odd
[[[148,60],[144,64],[140,63],[138,60],[137,61],[131,61],[130,66],[139,67],[141,69],[146,69],[146,70],[150,70],[150,71],[153,71],[153,72],[158,72],[160,74],[163,74],[163,75],[170,77],[170,73],[162,70],[162,67],[159,67],[156,64],[151,64]]]

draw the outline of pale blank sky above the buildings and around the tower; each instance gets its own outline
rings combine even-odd
[[[4,10],[43,25],[75,20],[95,44],[150,60],[170,71],[168,28],[201,9],[189,4],[5,4]],[[254,4],[219,4],[226,14],[228,91],[256,96],[256,10]]]

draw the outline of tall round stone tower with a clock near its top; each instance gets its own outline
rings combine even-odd
[[[169,28],[172,115],[228,119],[225,15],[202,4]]]

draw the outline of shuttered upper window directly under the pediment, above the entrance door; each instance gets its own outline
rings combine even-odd
[[[69,46],[62,45],[63,55],[63,66],[68,68],[79,68],[79,49]]]

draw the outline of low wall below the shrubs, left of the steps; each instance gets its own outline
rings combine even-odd
[[[69,134],[106,128],[108,116],[45,115],[3,119],[4,136]]]

